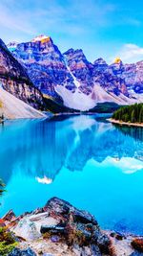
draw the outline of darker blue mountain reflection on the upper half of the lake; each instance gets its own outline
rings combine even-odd
[[[107,157],[114,161],[127,157],[143,161],[143,132],[128,128],[124,133],[110,123],[86,115],[63,121],[54,118],[51,122],[8,123],[0,128],[0,176],[6,183],[12,172],[52,181],[63,167],[82,171],[91,159],[98,163]]]

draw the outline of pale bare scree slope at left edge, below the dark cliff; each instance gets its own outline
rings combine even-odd
[[[0,87],[0,116],[2,115],[8,119],[46,117],[42,112]]]

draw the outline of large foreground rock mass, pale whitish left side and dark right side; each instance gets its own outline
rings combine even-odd
[[[110,252],[111,241],[94,217],[60,198],[51,198],[42,210],[23,216],[12,230],[24,241],[43,238],[45,243],[64,242],[76,251],[75,255],[100,256]]]

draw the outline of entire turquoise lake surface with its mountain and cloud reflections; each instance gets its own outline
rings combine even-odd
[[[59,197],[102,228],[143,235],[143,128],[94,115],[8,121],[0,126],[0,177],[1,216]]]

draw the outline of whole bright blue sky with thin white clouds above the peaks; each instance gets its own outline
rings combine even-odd
[[[87,58],[143,59],[141,0],[0,0],[1,38],[29,41],[51,35],[64,52],[82,48]]]

